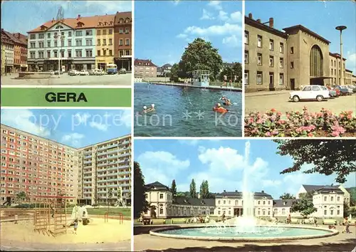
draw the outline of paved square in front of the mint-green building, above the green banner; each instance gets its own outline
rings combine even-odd
[[[46,79],[16,79],[17,74],[1,75],[1,85],[131,85],[131,73],[122,75],[70,76],[64,73]]]

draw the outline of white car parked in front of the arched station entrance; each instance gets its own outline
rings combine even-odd
[[[323,85],[306,85],[303,90],[290,92],[289,94],[289,99],[295,102],[300,100],[318,100],[318,102],[321,102],[330,98],[328,88]]]

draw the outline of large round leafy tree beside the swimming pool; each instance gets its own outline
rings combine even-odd
[[[222,59],[218,49],[213,48],[210,42],[202,38],[195,38],[189,43],[179,62],[179,68],[184,73],[192,73],[194,70],[209,70],[211,80],[220,73]]]

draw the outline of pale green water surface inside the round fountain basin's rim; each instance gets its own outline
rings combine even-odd
[[[231,226],[219,229],[218,227],[203,227],[194,229],[172,229],[159,231],[175,236],[202,236],[202,237],[235,237],[235,238],[278,238],[290,236],[320,236],[330,231],[318,229],[301,229],[293,227],[256,226],[254,231],[244,231],[242,226]]]

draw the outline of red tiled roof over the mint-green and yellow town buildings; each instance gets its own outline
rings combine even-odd
[[[113,27],[115,21],[115,15],[104,15],[104,16],[80,16],[78,15],[76,18],[70,19],[62,19],[61,21],[57,21],[52,19],[51,21],[47,21],[43,23],[41,26],[28,31],[28,33],[35,33],[43,31],[41,27],[44,26],[46,30],[56,25],[56,23],[63,23],[66,26],[71,28],[85,29],[85,28],[100,28],[100,27]],[[105,24],[106,22],[106,24]],[[82,26],[78,27],[78,23],[83,23]]]

